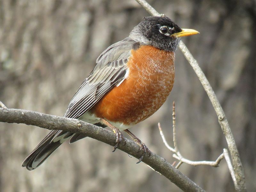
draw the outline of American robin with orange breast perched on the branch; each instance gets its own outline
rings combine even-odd
[[[145,17],[129,37],[110,45],[96,60],[68,105],[64,117],[77,118],[116,133],[116,146],[127,132],[144,151],[149,150],[127,129],[156,112],[170,94],[174,82],[174,57],[181,36],[198,32],[181,29],[168,17]],[[22,163],[36,169],[64,141],[84,135],[53,130]],[[142,160],[140,158],[139,162]]]

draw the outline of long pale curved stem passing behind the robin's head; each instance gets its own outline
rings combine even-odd
[[[145,0],[136,0],[144,9],[146,9],[151,15],[153,16],[161,16],[152,6],[150,6]],[[234,165],[234,172],[236,173],[236,181],[237,181],[237,188],[238,191],[246,191],[245,187],[245,177],[244,177],[244,169],[241,163],[241,159],[236,147],[234,136],[231,132],[231,129],[229,127],[227,118],[225,116],[225,113],[223,109],[220,106],[220,102],[217,99],[215,93],[212,90],[212,87],[208,80],[206,79],[202,69],[199,67],[197,61],[194,59],[192,54],[189,52],[186,45],[180,41],[179,48],[181,52],[185,55],[186,59],[188,60],[189,64],[192,66],[194,71],[196,72],[196,75],[198,76],[201,84],[204,87],[205,92],[207,93],[208,97],[210,98],[212,102],[212,106],[215,109],[215,112],[218,116],[219,124],[222,129],[223,134],[225,135],[225,138],[228,143],[228,149],[230,152],[230,156],[232,159],[232,163]]]

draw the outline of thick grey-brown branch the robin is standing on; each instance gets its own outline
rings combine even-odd
[[[102,141],[108,145],[116,144],[116,135],[113,132],[101,127],[80,121],[59,116],[52,116],[34,111],[21,109],[0,108],[0,122],[7,123],[23,123],[27,125],[35,125],[49,130],[63,130],[73,133],[83,133],[87,137]],[[126,139],[126,145],[118,147],[120,150],[139,159],[142,152],[138,152],[140,147],[133,141]],[[164,175],[167,179],[177,185],[183,191],[204,191],[197,186],[188,177],[183,175],[177,169],[173,168],[164,158],[157,156],[153,152],[151,155],[145,156],[142,160],[152,169]]]

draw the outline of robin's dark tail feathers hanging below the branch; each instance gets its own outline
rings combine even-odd
[[[64,141],[74,135],[70,132],[53,130],[44,140],[29,154],[23,161],[22,167],[26,167],[29,171],[36,169],[47,159],[53,151],[55,151]]]

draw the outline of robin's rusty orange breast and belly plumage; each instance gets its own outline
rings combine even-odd
[[[174,53],[152,46],[132,50],[128,77],[91,109],[111,122],[136,124],[159,109],[174,82]]]

